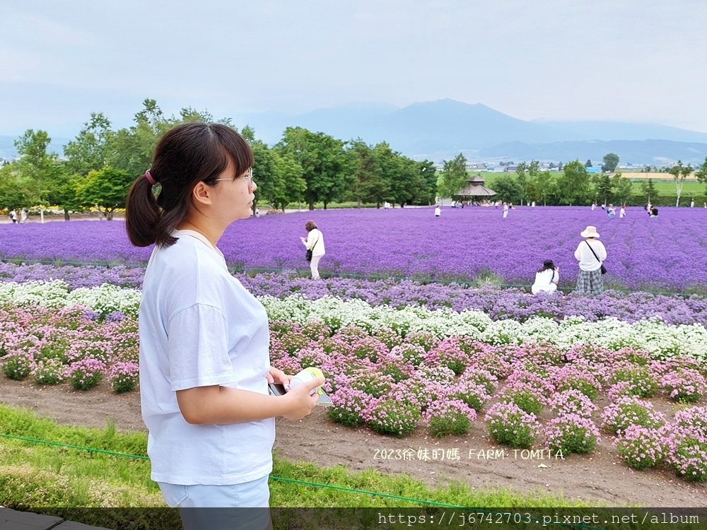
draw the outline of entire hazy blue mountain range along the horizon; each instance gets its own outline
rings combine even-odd
[[[469,160],[600,161],[617,153],[621,163],[693,165],[707,157],[707,133],[660,124],[557,122],[517,119],[477,103],[455,100],[390,105],[347,105],[297,116],[283,112],[233,113],[238,127],[248,124],[256,136],[276,143],[286,126],[322,131],[342,140],[387,141],[411,158],[437,162],[464,153]],[[13,138],[0,136],[0,156],[11,157]],[[67,139],[54,139],[59,152]]]

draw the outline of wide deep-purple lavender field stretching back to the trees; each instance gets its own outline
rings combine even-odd
[[[530,285],[544,259],[560,267],[560,286],[577,276],[573,252],[586,225],[595,225],[609,257],[607,287],[686,293],[707,292],[707,221],[704,208],[661,208],[648,218],[627,208],[609,220],[600,208],[519,207],[507,219],[496,208],[330,210],[268,215],[234,223],[219,246],[238,269],[305,269],[308,219],[325,235],[320,271],[433,281],[495,276],[502,283]],[[132,247],[121,221],[0,226],[0,257],[144,265],[151,249]]]

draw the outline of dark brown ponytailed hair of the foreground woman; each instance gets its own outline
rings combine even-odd
[[[149,170],[160,185],[158,196],[145,175],[137,177],[128,192],[125,229],[130,242],[136,247],[173,245],[177,239],[170,232],[186,220],[194,186],[214,186],[229,160],[235,166],[234,178],[253,165],[250,146],[229,126],[196,122],[167,131],[155,147]]]

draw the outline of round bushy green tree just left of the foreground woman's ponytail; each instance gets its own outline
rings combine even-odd
[[[98,206],[98,211],[112,220],[115,210],[125,207],[126,190],[133,180],[127,171],[110,166],[91,170],[76,183],[76,200],[83,206]]]

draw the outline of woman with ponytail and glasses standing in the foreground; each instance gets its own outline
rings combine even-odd
[[[216,247],[233,221],[251,215],[252,164],[250,146],[230,127],[180,124],[162,136],[127,196],[130,241],[155,244],[139,309],[151,478],[189,529],[238,527],[247,514],[226,510],[216,522],[210,511],[182,509],[263,508],[249,512],[248,527],[270,524],[274,418],[307,416],[317,402],[309,392],[324,382],[268,394],[269,383],[291,376],[271,367],[265,308]]]

